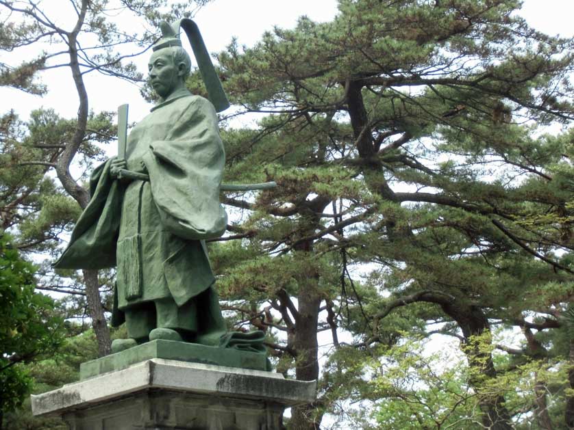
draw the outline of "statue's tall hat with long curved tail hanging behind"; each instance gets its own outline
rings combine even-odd
[[[158,51],[158,49],[167,48],[169,46],[182,46],[182,41],[179,40],[180,28],[184,29],[188,36],[193,55],[195,55],[197,67],[199,67],[205,88],[208,90],[208,97],[211,103],[213,103],[216,111],[225,111],[225,109],[229,107],[229,100],[227,100],[227,96],[225,96],[221,81],[211,62],[208,49],[205,47],[199,28],[194,21],[189,18],[183,18],[179,21],[175,21],[175,23],[171,25],[162,21],[160,23],[162,38],[158,40],[158,42],[155,42],[151,49]]]

